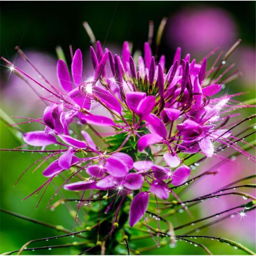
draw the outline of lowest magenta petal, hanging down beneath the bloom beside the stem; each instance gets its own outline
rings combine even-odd
[[[149,196],[147,192],[140,192],[134,196],[130,212],[129,212],[129,225],[133,227],[145,214],[148,208]]]

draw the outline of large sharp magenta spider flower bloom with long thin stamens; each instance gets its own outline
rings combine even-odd
[[[64,188],[81,191],[82,198],[77,199],[80,203],[83,200],[107,200],[104,212],[107,214],[111,208],[115,209],[110,217],[112,234],[118,213],[123,209],[122,205],[127,204],[124,199],[131,201],[128,202],[131,227],[143,217],[147,223],[145,213],[150,196],[155,198],[157,209],[158,200],[164,204],[170,195],[179,200],[177,205],[183,206],[174,190],[208,174],[205,171],[189,180],[190,176],[195,176],[195,166],[187,164],[193,154],[198,153],[202,156],[199,161],[203,161],[217,154],[220,150],[215,145],[221,145],[221,149],[230,147],[237,154],[255,161],[254,156],[234,142],[237,138],[232,135],[236,123],[247,119],[227,124],[229,119],[237,116],[231,111],[250,105],[233,104],[235,95],[221,95],[221,79],[225,73],[216,78],[216,67],[207,70],[207,58],[197,62],[190,60],[187,54],[182,59],[178,48],[169,68],[164,56],[158,60],[152,55],[147,42],[144,56],[139,56],[138,60],[133,59],[128,42],[124,42],[121,57],[108,49],[103,50],[97,42],[96,48],[91,47],[91,60],[94,68],[91,79],[82,76],[79,49],[72,58],[71,68],[58,61],[57,75],[63,90],[53,92],[45,88],[56,100],[49,101],[42,119],[35,120],[44,129],[23,136],[28,145],[42,147],[34,151],[52,152],[46,158],[54,157],[52,164],[43,171],[49,179],[34,193],[44,186],[47,188],[58,174],[69,174],[70,167],[75,167],[76,171],[64,180],[55,194]],[[223,61],[219,70],[225,67]],[[110,67],[110,75],[106,65]],[[18,67],[13,66],[13,69],[20,76],[33,79]],[[40,82],[37,84],[44,88]],[[92,114],[92,105],[102,105],[110,113],[109,117]],[[76,132],[72,130],[74,125],[78,127]],[[106,147],[98,147],[84,127],[91,128]],[[98,132],[98,127],[114,130],[106,137]],[[59,144],[61,149],[48,149],[52,144]],[[77,181],[70,182],[73,177]],[[83,199],[87,190],[94,199],[91,196]],[[171,225],[169,227],[172,231]]]

